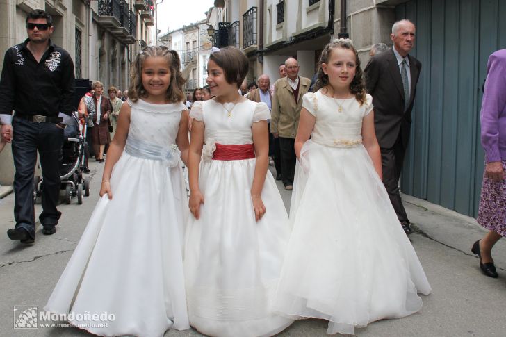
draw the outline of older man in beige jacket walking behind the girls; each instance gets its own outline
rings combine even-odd
[[[285,61],[286,77],[274,83],[270,132],[279,137],[281,148],[281,175],[286,190],[293,188],[295,174],[295,135],[299,126],[302,96],[309,90],[311,80],[299,76],[299,63],[295,58]]]

